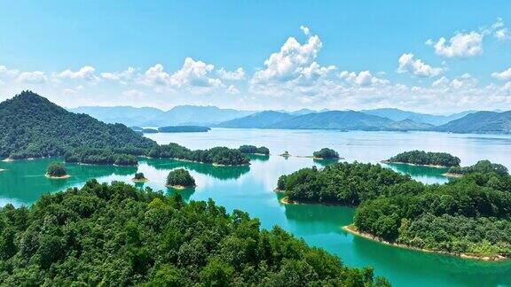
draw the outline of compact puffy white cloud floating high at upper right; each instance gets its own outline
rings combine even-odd
[[[436,54],[447,58],[472,57],[483,53],[483,34],[475,31],[457,33],[449,39],[449,43],[441,37],[436,43],[428,40],[426,44],[433,46]]]

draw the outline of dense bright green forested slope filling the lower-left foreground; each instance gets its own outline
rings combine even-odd
[[[4,206],[0,242],[12,286],[389,286],[247,213],[122,182]]]

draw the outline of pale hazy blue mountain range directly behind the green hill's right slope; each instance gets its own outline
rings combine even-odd
[[[200,105],[177,105],[167,112],[152,107],[136,108],[132,106],[81,106],[69,109],[69,111],[86,113],[109,123],[119,122],[127,126],[142,127],[209,126],[254,113]]]

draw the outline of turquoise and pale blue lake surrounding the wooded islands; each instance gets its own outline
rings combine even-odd
[[[135,172],[143,172],[151,187],[170,193],[164,186],[169,170],[188,169],[197,188],[177,191],[186,200],[213,198],[227,210],[240,209],[257,217],[265,229],[279,225],[302,237],[307,243],[337,254],[350,267],[372,266],[376,275],[387,277],[394,286],[508,286],[511,285],[511,262],[483,262],[428,252],[416,252],[354,237],[342,230],[350,224],[354,209],[341,206],[279,204],[273,192],[279,175],[302,167],[325,166],[332,162],[309,156],[322,147],[333,148],[348,161],[379,162],[401,151],[447,151],[460,157],[462,165],[490,159],[511,167],[511,137],[494,135],[455,135],[428,132],[337,132],[311,130],[267,130],[213,128],[208,133],[146,135],[158,143],[179,143],[192,149],[206,149],[241,144],[267,146],[270,157],[251,157],[249,167],[213,167],[171,159],[140,159],[138,167],[67,165],[71,175],[66,180],[44,177],[47,165],[55,159],[0,162],[0,206],[29,205],[43,193],[82,186],[90,178],[100,182],[130,182]],[[294,157],[278,154],[289,151]],[[445,169],[392,165],[398,172],[412,175],[426,183],[447,182]]]

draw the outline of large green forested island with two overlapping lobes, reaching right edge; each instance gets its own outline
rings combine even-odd
[[[467,174],[442,185],[380,165],[338,163],[279,178],[284,203],[357,206],[351,232],[483,260],[511,256],[511,176]]]

